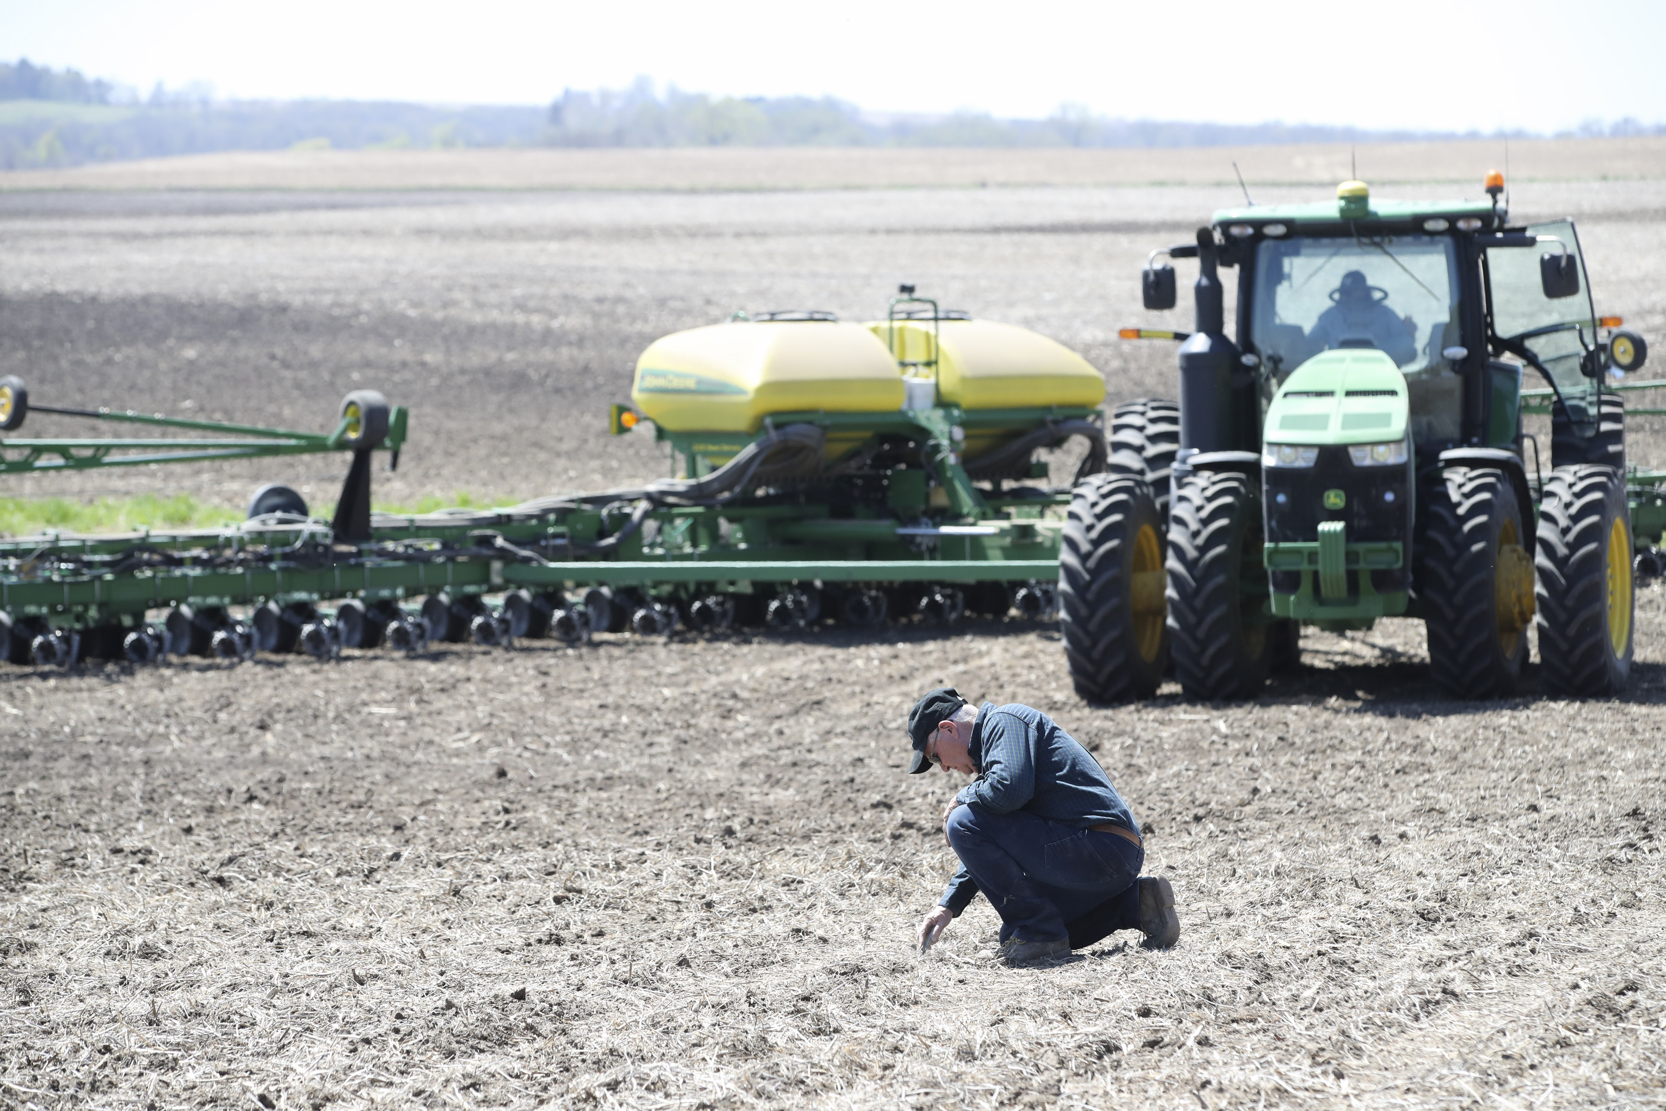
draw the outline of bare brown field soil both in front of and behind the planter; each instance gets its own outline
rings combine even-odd
[[[5,195],[0,373],[303,428],[377,386],[413,408],[378,498],[530,496],[658,473],[605,403],[648,340],[736,306],[865,318],[916,281],[1085,351],[1113,400],[1170,395],[1173,350],[1115,330],[1150,320],[1145,253],[1233,200]],[[1579,218],[1599,310],[1646,335],[1663,202],[1514,198]],[[1631,458],[1658,465],[1658,433],[1633,421]],[[340,470],[12,490],[327,501]],[[1301,671],[1236,705],[1086,706],[1051,625],[986,620],[8,668],[0,1106],[1656,1104],[1663,630],[1653,585],[1609,701],[1533,666],[1516,698],[1444,700],[1399,620],[1308,633]],[[913,951],[958,781],[903,775],[901,725],[940,683],[1096,753],[1178,948],[1005,969],[980,899]]]

